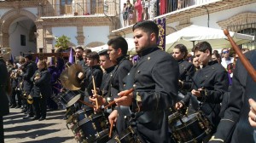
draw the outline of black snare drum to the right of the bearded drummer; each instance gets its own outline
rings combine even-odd
[[[170,117],[168,117],[170,120]],[[171,117],[169,128],[177,142],[201,142],[207,134],[212,132],[212,126],[207,117],[196,112],[189,117]]]

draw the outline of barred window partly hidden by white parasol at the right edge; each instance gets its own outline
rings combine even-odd
[[[244,43],[240,45],[241,49],[256,49],[256,23],[238,25],[238,26],[228,26],[229,31],[236,31],[238,33],[247,34],[254,36],[254,41],[250,43]]]

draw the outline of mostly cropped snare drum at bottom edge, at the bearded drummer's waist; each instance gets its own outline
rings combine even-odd
[[[142,141],[134,137],[134,130],[129,126],[118,136],[114,136],[108,143],[141,143]]]

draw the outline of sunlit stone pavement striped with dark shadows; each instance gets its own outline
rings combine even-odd
[[[10,108],[10,114],[3,117],[5,143],[73,143],[73,133],[62,118],[66,110],[47,112],[46,120],[22,119],[26,115],[21,109]]]

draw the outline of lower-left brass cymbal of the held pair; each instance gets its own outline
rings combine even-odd
[[[80,88],[77,88],[76,86],[73,85],[73,83],[70,83],[70,80],[68,79],[68,69],[65,71],[61,72],[60,76],[61,84],[69,90],[79,90]]]

